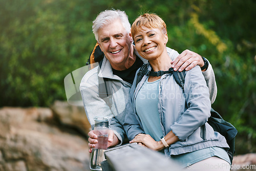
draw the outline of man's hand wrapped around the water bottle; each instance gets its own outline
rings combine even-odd
[[[92,148],[95,147],[95,145],[98,143],[97,140],[97,135],[94,133],[94,130],[90,131],[88,133],[88,145],[89,145],[89,153],[92,153]],[[108,142],[108,147],[112,147],[112,146],[116,146],[117,144],[119,144],[119,140],[116,137],[116,135],[114,134],[114,132],[112,130],[109,130],[109,142]]]

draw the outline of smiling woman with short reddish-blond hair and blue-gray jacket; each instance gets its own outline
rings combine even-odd
[[[208,164],[210,169],[221,164],[219,170],[229,170],[225,151],[229,146],[207,123],[211,103],[200,67],[186,72],[184,90],[172,72],[155,76],[154,72],[172,70],[171,57],[177,53],[166,51],[164,21],[156,14],[145,13],[135,20],[131,30],[136,50],[148,60],[147,69],[153,74],[144,75],[137,85],[133,83],[124,123],[130,143],[161,151],[184,168]]]

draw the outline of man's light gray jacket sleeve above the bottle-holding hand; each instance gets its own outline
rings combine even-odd
[[[125,137],[123,126],[115,118],[108,104],[99,97],[98,78],[97,74],[95,74],[96,72],[96,69],[87,72],[80,83],[80,92],[87,119],[89,120],[92,129],[94,129],[95,116],[104,115],[110,117],[110,129],[114,131],[115,135],[120,140],[120,144],[122,144]]]

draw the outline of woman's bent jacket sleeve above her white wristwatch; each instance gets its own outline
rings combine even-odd
[[[210,117],[209,90],[199,66],[189,70],[185,76],[184,95],[187,110],[181,115],[170,129],[184,141],[196,129],[207,122]]]

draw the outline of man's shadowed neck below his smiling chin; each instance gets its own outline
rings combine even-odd
[[[118,71],[127,70],[133,66],[135,60],[136,60],[136,54],[134,52],[133,44],[131,44],[130,53],[127,59],[123,63],[120,63],[118,66],[112,66],[112,68]]]

